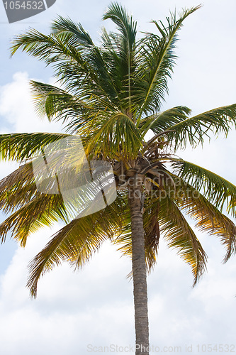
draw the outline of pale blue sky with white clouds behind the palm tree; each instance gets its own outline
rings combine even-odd
[[[138,31],[154,30],[150,20],[164,20],[169,9],[181,11],[199,4],[195,0],[120,3],[137,19]],[[61,131],[59,124],[38,118],[28,89],[30,79],[53,82],[52,69],[21,52],[10,59],[11,38],[28,27],[47,33],[59,14],[81,22],[97,40],[101,26],[111,28],[108,21],[101,21],[108,4],[105,0],[57,0],[47,11],[11,24],[0,4],[1,134]],[[184,105],[198,114],[236,103],[236,2],[205,0],[202,4],[179,32],[179,58],[163,109]],[[212,138],[203,148],[188,148],[178,154],[235,183],[235,141],[232,131],[227,139]],[[15,163],[1,163],[0,178],[14,168]],[[0,218],[4,220],[3,214]],[[135,342],[133,285],[126,278],[131,263],[111,244],[104,244],[82,271],[74,273],[67,265],[55,268],[40,280],[37,299],[30,299],[26,289],[28,262],[59,228],[55,225],[31,235],[26,249],[18,248],[10,238],[0,245],[0,354],[125,352],[125,346]],[[147,278],[150,345],[154,346],[150,354],[206,354],[208,345],[218,346],[215,350],[223,349],[223,354],[236,352],[236,258],[232,256],[223,264],[219,239],[196,233],[208,254],[208,272],[195,288],[191,287],[189,266],[174,250],[167,249],[164,241],[160,243],[157,266]],[[130,354],[134,354],[132,349]]]

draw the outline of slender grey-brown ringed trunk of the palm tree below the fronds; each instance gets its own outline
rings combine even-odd
[[[135,303],[136,355],[148,355],[147,269],[142,219],[142,187],[129,189],[132,231],[133,294]]]

